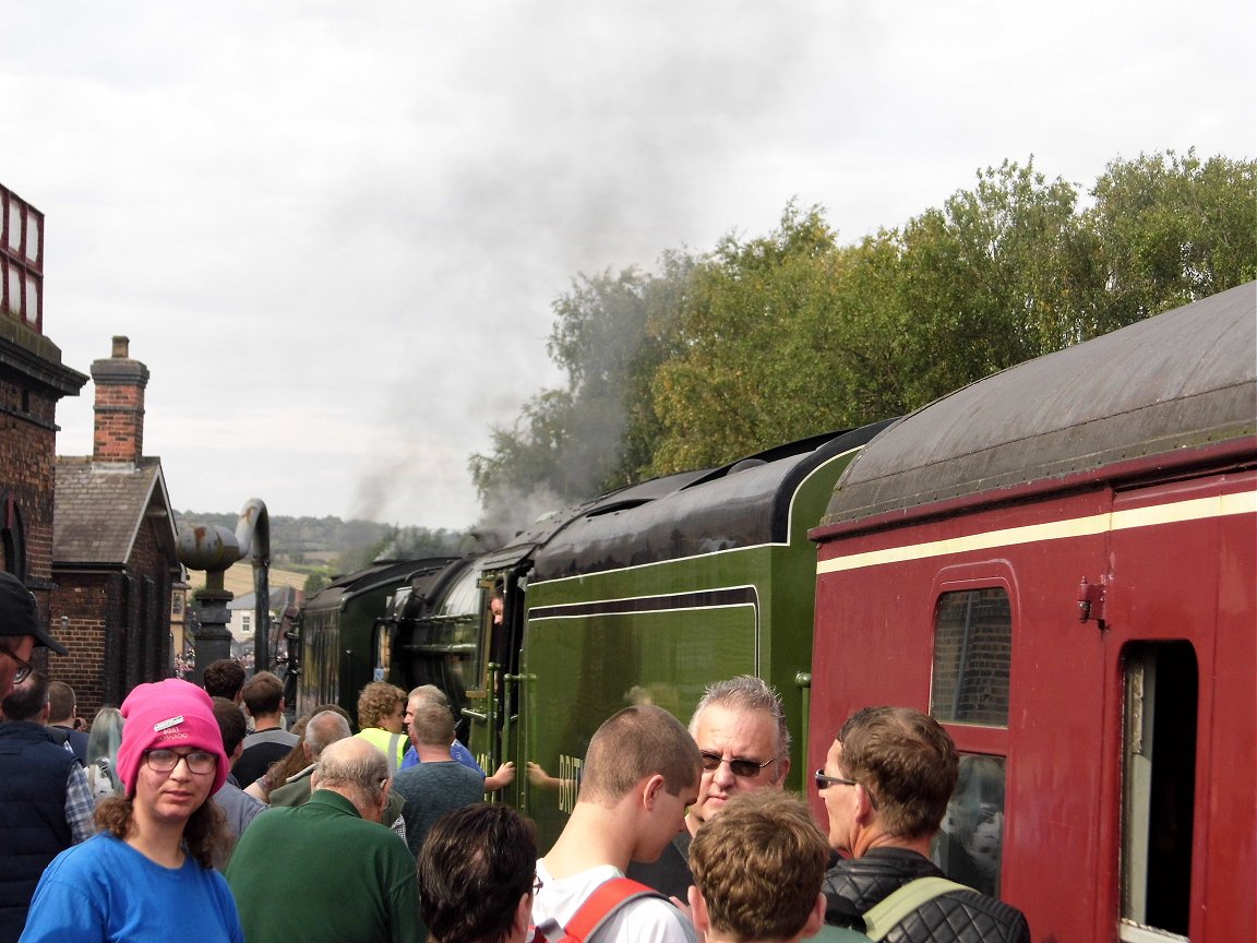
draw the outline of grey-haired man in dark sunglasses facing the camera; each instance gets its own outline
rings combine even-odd
[[[763,680],[740,675],[706,689],[690,719],[690,736],[703,756],[699,798],[685,829],[652,864],[634,864],[628,876],[684,902],[690,874],[690,840],[733,796],[781,790],[789,772],[789,731],[782,703]]]

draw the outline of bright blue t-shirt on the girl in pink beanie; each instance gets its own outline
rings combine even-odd
[[[191,937],[189,937],[191,934]],[[109,832],[48,865],[30,902],[21,943],[244,943],[222,875],[191,855],[162,868]]]

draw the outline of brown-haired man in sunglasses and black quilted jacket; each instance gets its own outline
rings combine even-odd
[[[952,737],[929,714],[877,707],[851,715],[816,773],[830,846],[850,855],[826,875],[826,923],[872,933],[865,917],[874,907],[919,878],[945,876],[930,861],[930,842],[958,771]],[[1017,908],[962,885],[935,886],[936,896],[887,918],[887,938],[925,943],[945,930],[958,943],[1029,943]]]

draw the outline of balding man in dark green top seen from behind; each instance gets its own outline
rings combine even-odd
[[[226,869],[248,943],[417,943],[419,884],[406,842],[380,824],[388,764],[366,741],[332,743],[305,805],[270,808]]]

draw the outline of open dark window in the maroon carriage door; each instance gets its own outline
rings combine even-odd
[[[1185,939],[1195,798],[1195,653],[1185,641],[1133,646],[1125,683],[1119,935]]]

